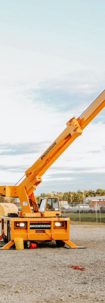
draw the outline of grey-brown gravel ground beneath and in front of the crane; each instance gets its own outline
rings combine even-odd
[[[70,234],[87,248],[56,248],[53,241],[37,249],[1,250],[0,302],[105,302],[105,226],[71,225]]]

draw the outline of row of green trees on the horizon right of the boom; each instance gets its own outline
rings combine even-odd
[[[37,202],[40,202],[41,198],[44,197],[58,197],[59,201],[68,201],[68,203],[84,203],[85,198],[87,197],[95,197],[95,196],[105,196],[105,190],[98,188],[96,191],[89,189],[88,191],[84,189],[81,191],[78,189],[77,192],[75,191],[67,191],[67,192],[56,192],[52,191],[51,193],[41,193],[40,196],[36,196]]]

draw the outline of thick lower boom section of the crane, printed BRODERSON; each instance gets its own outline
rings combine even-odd
[[[41,176],[56,161],[65,149],[82,133],[78,121],[73,117],[67,123],[67,128],[59,135],[58,138],[49,146],[41,157],[29,168],[26,178],[21,182],[25,186],[29,196],[37,185],[42,181]]]

